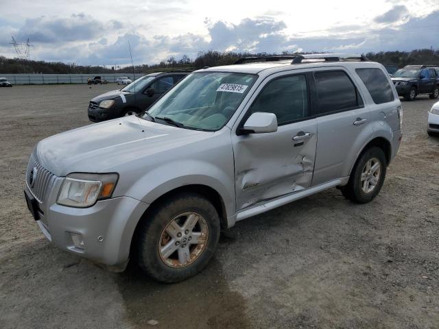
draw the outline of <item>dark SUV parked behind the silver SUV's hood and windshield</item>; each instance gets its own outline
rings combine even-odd
[[[88,104],[88,119],[106,121],[143,112],[189,72],[156,72],[144,75],[120,90],[93,98]]]

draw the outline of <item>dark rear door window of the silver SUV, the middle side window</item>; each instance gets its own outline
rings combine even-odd
[[[343,71],[314,73],[318,93],[318,114],[357,108],[362,104],[357,89]]]

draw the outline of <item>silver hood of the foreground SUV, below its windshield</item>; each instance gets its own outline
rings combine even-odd
[[[119,172],[129,168],[131,161],[184,147],[212,134],[130,116],[45,138],[36,147],[36,158],[57,176]]]

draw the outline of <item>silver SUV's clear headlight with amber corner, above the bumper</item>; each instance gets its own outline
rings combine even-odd
[[[58,195],[58,204],[86,208],[97,200],[111,197],[119,175],[117,173],[71,173],[67,175]]]

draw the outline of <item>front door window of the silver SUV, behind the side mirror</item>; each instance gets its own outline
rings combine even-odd
[[[305,75],[281,77],[269,82],[250,108],[276,114],[278,125],[307,117],[308,91]]]

